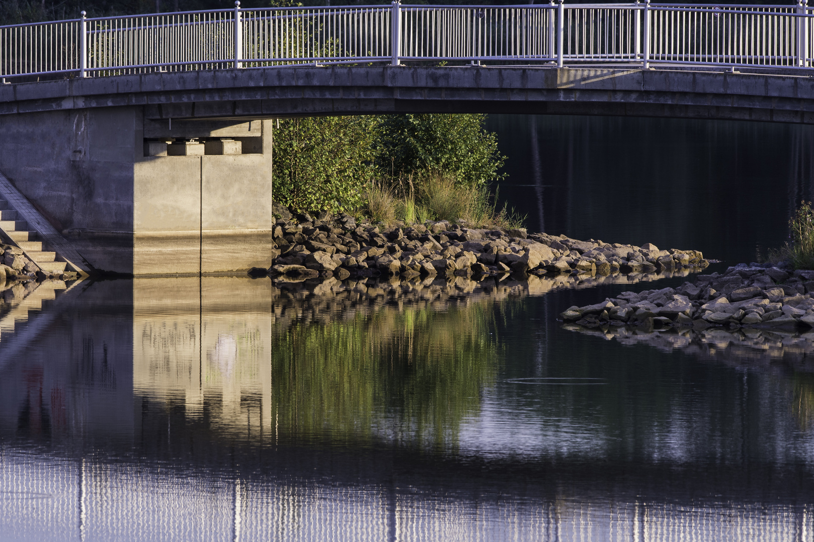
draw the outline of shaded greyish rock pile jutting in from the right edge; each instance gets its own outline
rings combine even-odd
[[[785,267],[785,266],[781,266]],[[624,292],[560,313],[584,328],[814,328],[814,271],[740,264],[672,289]]]

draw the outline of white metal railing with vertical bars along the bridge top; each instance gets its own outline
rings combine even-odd
[[[811,68],[814,11],[667,3],[273,7],[0,27],[0,77],[293,64]]]

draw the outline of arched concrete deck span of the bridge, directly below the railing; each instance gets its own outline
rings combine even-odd
[[[501,112],[812,124],[814,79],[808,73],[403,65],[221,69],[2,85],[0,116],[143,106],[146,121]]]

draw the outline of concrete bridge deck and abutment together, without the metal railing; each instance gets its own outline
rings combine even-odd
[[[24,219],[0,229],[45,224],[2,235],[47,240],[50,250],[68,243],[91,272],[269,267],[274,117],[509,112],[814,124],[807,73],[296,66],[0,85],[0,196],[19,200],[13,210]],[[7,185],[17,192],[3,192]]]

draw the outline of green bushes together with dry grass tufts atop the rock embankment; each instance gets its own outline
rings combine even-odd
[[[280,121],[274,197],[297,210],[365,213],[374,222],[515,224],[505,209],[497,211],[488,189],[501,178],[497,170],[505,157],[484,119],[444,114]]]

